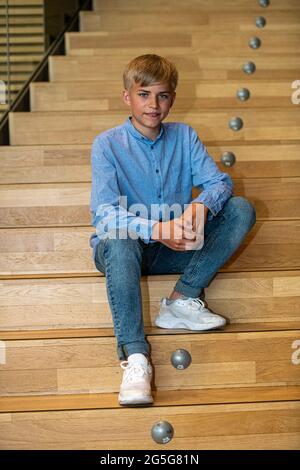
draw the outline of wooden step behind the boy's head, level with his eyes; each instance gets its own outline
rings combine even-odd
[[[21,66],[20,66],[21,67]],[[16,68],[16,65],[15,65]],[[1,70],[1,68],[0,68]],[[236,93],[250,91],[250,99],[241,103]],[[31,111],[120,111],[126,109],[120,82],[35,82],[30,86]],[[172,111],[204,108],[272,108],[291,106],[291,82],[232,80],[184,80],[179,83]]]

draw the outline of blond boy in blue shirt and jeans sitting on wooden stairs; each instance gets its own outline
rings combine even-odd
[[[182,273],[161,300],[156,326],[222,327],[226,321],[208,308],[204,288],[256,218],[247,199],[232,195],[230,176],[219,171],[195,130],[162,123],[175,100],[174,64],[154,54],[139,56],[126,66],[123,80],[131,115],[98,135],[92,147],[96,233],[90,245],[96,268],[106,276],[124,369],[119,403],[138,405],[153,402],[141,275]],[[193,186],[203,190],[192,200]]]

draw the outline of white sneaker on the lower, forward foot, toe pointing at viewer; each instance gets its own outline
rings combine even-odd
[[[151,395],[152,367],[144,354],[130,354],[121,362],[124,369],[120,387],[120,405],[142,405],[153,403]]]

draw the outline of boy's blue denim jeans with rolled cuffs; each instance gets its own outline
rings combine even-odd
[[[200,250],[175,251],[160,242],[146,244],[140,238],[100,240],[95,265],[106,276],[120,360],[134,353],[150,354],[144,333],[141,276],[182,273],[175,290],[188,297],[204,298],[204,288],[237,250],[255,221],[253,205],[243,197],[231,196],[222,210],[206,221]]]

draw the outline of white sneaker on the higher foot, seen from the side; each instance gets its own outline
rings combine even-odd
[[[201,299],[179,298],[167,305],[164,298],[161,300],[155,325],[159,328],[204,331],[220,328],[226,325],[226,320],[212,313]]]

